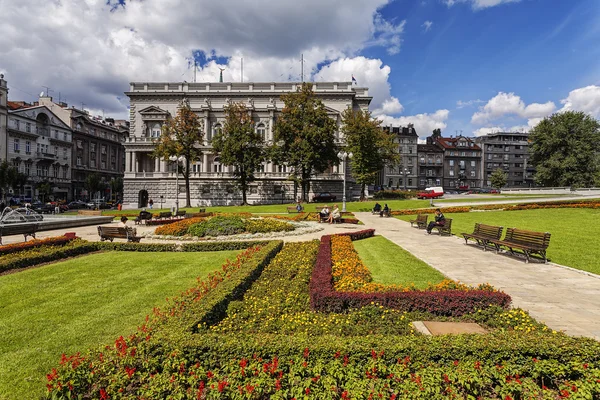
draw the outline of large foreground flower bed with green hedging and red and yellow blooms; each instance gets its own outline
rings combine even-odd
[[[377,305],[366,309],[381,314],[348,324],[355,335],[335,331],[352,311],[312,313],[315,319],[307,319],[307,265],[319,247],[286,244],[243,299],[232,295],[228,306],[222,299],[239,285],[225,289],[224,284],[244,267],[225,266],[218,279],[156,311],[134,335],[90,355],[64,356],[47,376],[48,397],[554,399],[600,394],[600,343],[591,339],[525,329],[427,338],[372,334],[369,329],[388,325],[387,309]],[[226,318],[218,323],[225,314],[212,314],[199,333],[192,333],[190,322],[215,309],[227,310]],[[328,320],[333,316],[338,320]],[[525,326],[526,317],[500,307],[470,316],[496,321],[500,328]],[[284,324],[290,324],[289,335],[273,333],[273,326]]]

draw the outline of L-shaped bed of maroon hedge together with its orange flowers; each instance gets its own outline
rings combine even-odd
[[[344,243],[343,239],[339,242]],[[337,263],[337,267],[332,269],[334,263]],[[332,252],[332,237],[323,236],[311,278],[311,306],[322,312],[341,313],[351,308],[378,303],[387,308],[408,312],[460,316],[492,304],[506,308],[511,301],[510,296],[489,286],[471,288],[460,285],[448,289],[448,283],[443,283],[423,291],[413,288],[394,291],[396,287],[388,291],[383,285],[373,284],[369,279],[370,273],[355,255],[353,248],[349,251],[347,245],[342,245]],[[336,285],[340,290],[355,291],[336,291]],[[372,292],[370,289],[380,292]]]

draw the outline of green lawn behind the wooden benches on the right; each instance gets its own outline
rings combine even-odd
[[[548,257],[551,261],[583,271],[600,274],[600,248],[598,237],[600,210],[594,209],[540,209],[522,211],[486,211],[445,214],[452,218],[452,232],[473,232],[476,222],[500,225],[504,228],[520,228],[550,232]],[[408,221],[413,216],[401,216]],[[431,219],[431,217],[430,217]]]

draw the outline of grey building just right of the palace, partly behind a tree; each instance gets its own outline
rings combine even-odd
[[[394,135],[401,160],[398,165],[386,166],[380,174],[380,185],[388,188],[415,190],[418,187],[417,144],[419,136],[412,124],[406,127],[384,126],[383,130]]]

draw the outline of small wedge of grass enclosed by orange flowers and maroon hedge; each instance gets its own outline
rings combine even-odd
[[[402,286],[414,283],[417,288],[423,289],[428,283],[435,284],[445,279],[441,272],[383,236],[352,243],[376,283]]]

